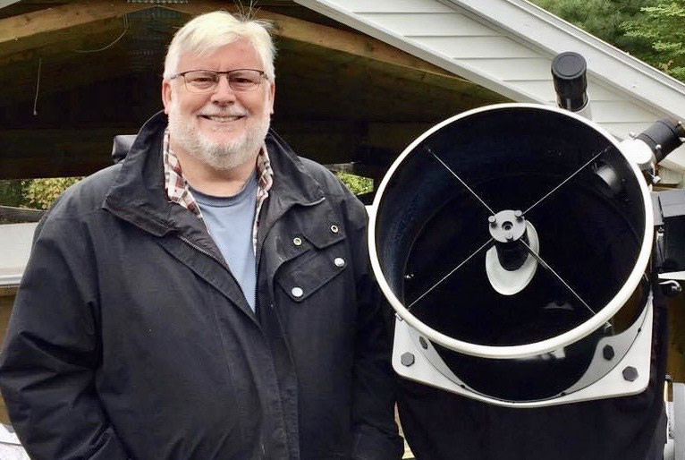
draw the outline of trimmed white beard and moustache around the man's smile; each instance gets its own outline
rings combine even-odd
[[[233,169],[254,158],[258,150],[261,149],[271,124],[271,117],[266,109],[261,115],[253,115],[242,106],[217,109],[208,104],[202,107],[198,113],[224,116],[248,115],[249,117],[249,122],[240,137],[234,141],[213,141],[199,132],[196,115],[183,115],[175,101],[171,104],[169,110],[170,138],[186,153],[218,171]],[[233,129],[233,127],[229,129]],[[221,130],[222,126],[216,126],[216,131]]]

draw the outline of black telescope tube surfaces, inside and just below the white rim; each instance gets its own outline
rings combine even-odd
[[[472,344],[525,345],[576,328],[605,308],[625,284],[645,226],[630,166],[587,124],[519,106],[445,125],[413,149],[391,178],[377,209],[376,249],[386,281],[405,306],[489,239],[490,210],[431,152],[495,213],[526,210],[580,171],[525,215],[539,235],[540,256],[558,277],[538,265],[520,293],[498,294],[486,277],[486,251],[479,251],[411,306],[412,314],[428,326]],[[613,167],[621,178],[619,192],[594,174],[597,165]],[[640,311],[631,311],[631,318]],[[602,328],[565,347],[559,358],[482,360],[438,351],[462,378],[488,394],[537,399],[568,388],[587,368],[596,341],[631,322]],[[552,364],[543,362],[547,358]],[[503,385],[508,381],[503,374],[522,380]],[[541,387],[535,383],[540,378],[546,379]]]

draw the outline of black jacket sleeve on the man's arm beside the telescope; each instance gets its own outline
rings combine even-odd
[[[391,343],[380,294],[368,262],[367,213],[356,199],[349,217],[354,229],[351,250],[357,278],[357,330],[353,367],[355,460],[393,460],[402,457],[402,438],[394,422],[395,374]]]

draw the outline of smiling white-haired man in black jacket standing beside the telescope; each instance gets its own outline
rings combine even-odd
[[[400,456],[365,209],[268,131],[273,60],[256,21],[190,21],[168,127],[38,227],[0,362],[32,457]]]

